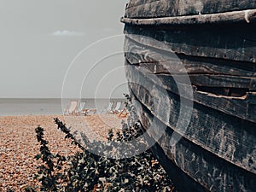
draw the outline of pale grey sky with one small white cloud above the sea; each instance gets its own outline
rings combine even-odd
[[[118,52],[122,38],[100,41],[74,59],[97,40],[122,34],[124,26],[119,19],[126,2],[1,0],[0,97],[61,97],[63,82],[65,97],[78,96],[79,91],[83,97],[93,97],[96,86],[101,90],[97,91],[99,96],[108,97],[113,84],[102,82],[108,82],[105,74],[109,74],[123,84],[124,73],[119,69],[124,64],[123,55],[99,63],[89,57],[101,55],[98,51],[105,54],[104,49],[112,51],[113,46],[112,52]],[[90,70],[92,66],[96,67]],[[113,90],[124,89],[115,87]]]

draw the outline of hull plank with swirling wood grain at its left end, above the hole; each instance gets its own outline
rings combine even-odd
[[[152,73],[225,74],[256,77],[256,65],[250,62],[178,55],[144,44],[137,44],[130,38],[125,38],[124,51],[125,58],[130,64],[145,67]]]

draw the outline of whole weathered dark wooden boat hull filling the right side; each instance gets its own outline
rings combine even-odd
[[[179,191],[255,191],[256,5],[192,2],[126,6],[131,96]]]

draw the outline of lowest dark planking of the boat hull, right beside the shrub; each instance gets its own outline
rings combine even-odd
[[[133,100],[137,100],[133,95],[133,89],[131,96]],[[147,108],[138,105],[140,102],[137,101],[133,103],[138,109],[143,127],[148,129],[153,125],[153,119],[154,122],[157,121],[159,127],[165,126],[160,120],[156,120]],[[158,131],[158,128],[155,128]],[[148,134],[151,135],[150,132]],[[178,191],[254,191],[255,174],[241,170],[226,160],[218,159],[218,156],[208,153],[205,148],[187,139],[181,138],[179,142],[172,145],[174,134],[177,132],[173,131],[172,127],[167,127],[163,136],[157,141],[159,145],[154,145],[152,150],[177,184]],[[198,187],[197,183],[201,187]]]

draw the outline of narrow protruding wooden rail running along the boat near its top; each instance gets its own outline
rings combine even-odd
[[[241,22],[254,22],[256,20],[256,9],[247,9],[241,11],[230,11],[219,14],[207,15],[188,15],[176,17],[136,19],[136,18],[121,18],[121,22],[137,26],[160,26],[160,25],[195,25],[195,24],[220,24]]]

